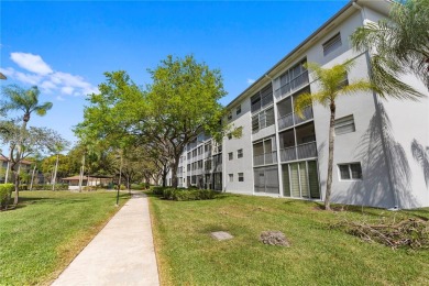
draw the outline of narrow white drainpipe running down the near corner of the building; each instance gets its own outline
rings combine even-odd
[[[362,24],[365,25],[365,23],[366,23],[365,9],[363,7],[361,7],[361,6],[359,6],[356,3],[356,1],[353,1],[352,6],[361,11]],[[366,57],[367,73],[369,73],[369,75],[371,75],[371,55],[370,55],[370,51],[365,52],[365,57]],[[381,114],[380,107],[378,107],[380,101],[378,101],[377,94],[375,91],[373,91],[373,99],[374,99],[374,105],[375,105],[375,112],[377,113],[377,116],[380,118],[380,120],[378,120],[380,130],[383,130],[383,124],[382,124],[382,120],[381,120],[382,114]],[[395,206],[393,208],[389,208],[388,210],[398,210],[399,209],[399,200],[398,200],[398,196],[397,196],[397,191],[396,191],[396,186],[395,186],[394,180],[393,180],[393,177],[394,177],[394,174],[392,173],[393,172],[393,168],[392,168],[393,164],[391,162],[391,156],[387,153],[388,147],[386,146],[386,139],[384,138],[384,133],[383,132],[381,132],[380,138],[382,140],[383,153],[385,155],[387,170],[388,170],[388,184],[389,184],[389,187],[391,187],[391,190],[392,190],[392,195],[393,195],[393,198],[394,198],[394,204],[395,204]]]

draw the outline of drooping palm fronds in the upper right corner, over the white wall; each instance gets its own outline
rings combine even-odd
[[[399,77],[414,74],[429,88],[429,0],[393,3],[389,20],[365,23],[351,42],[356,51],[371,53],[371,80],[382,97],[424,97]]]

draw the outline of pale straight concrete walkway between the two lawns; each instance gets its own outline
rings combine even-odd
[[[52,285],[160,285],[147,198],[133,195]]]

